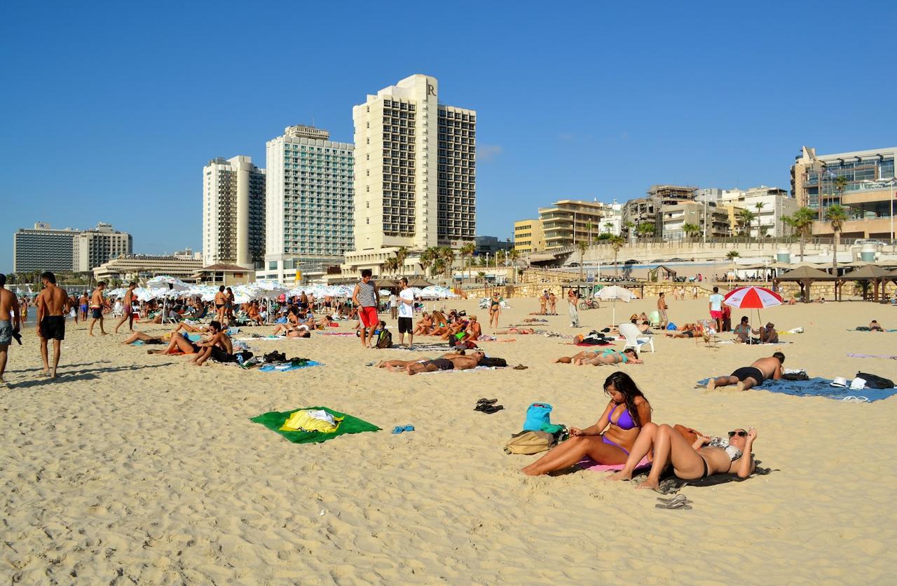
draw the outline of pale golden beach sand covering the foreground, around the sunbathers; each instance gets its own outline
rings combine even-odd
[[[536,309],[533,300],[512,304],[502,324]],[[653,304],[621,303],[617,317]],[[702,318],[707,304],[670,306],[682,323]],[[501,450],[536,400],[554,406],[555,423],[597,420],[614,369],[549,363],[574,353],[567,340],[483,344],[524,371],[408,377],[365,363],[412,353],[316,336],[255,348],[326,366],[265,373],[150,356],[120,345],[121,335],[89,338],[69,322],[61,378],[50,381],[37,377],[29,332],[11,349],[13,388],[0,389],[0,575],[26,583],[889,582],[897,398],[850,404],[693,387],[779,348],[787,366],[811,375],[862,369],[897,379],[897,362],[846,355],[897,354],[897,334],[845,331],[873,318],[897,326],[897,310],[844,302],[762,317],[806,333],[783,338],[789,345],[716,349],[658,337],[645,364],[623,367],[655,422],[712,434],[753,425],[757,458],[780,469],[686,486],[692,511],[659,511],[658,494],[601,473],[526,477],[518,469],[536,457]],[[548,328],[571,332],[566,316],[549,319]],[[582,312],[587,328],[610,319],[608,307]],[[505,409],[475,412],[483,397]],[[315,405],[384,431],[294,445],[248,420]],[[398,424],[416,431],[389,433]]]

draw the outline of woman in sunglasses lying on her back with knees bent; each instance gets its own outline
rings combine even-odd
[[[648,480],[638,488],[657,488],[660,475],[667,467],[673,466],[676,477],[695,480],[714,474],[736,474],[739,478],[751,476],[756,463],[753,461],[753,441],[757,430],[735,429],[728,433],[728,442],[720,438],[698,436],[689,443],[684,436],[667,424],[645,424],[632,446],[623,469],[608,477],[608,480],[629,480],[632,471],[651,448],[654,459]]]

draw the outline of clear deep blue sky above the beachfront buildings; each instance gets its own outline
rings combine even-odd
[[[414,73],[478,110],[480,234],[653,183],[788,188],[803,144],[897,143],[895,3],[404,5],[7,4],[0,271],[39,220],[200,249],[205,162],[263,166],[312,117],[351,141],[353,104]]]

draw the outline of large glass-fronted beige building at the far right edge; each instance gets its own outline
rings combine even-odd
[[[791,194],[798,206],[817,213],[813,225],[816,236],[832,236],[832,224],[825,222],[825,209],[833,204],[848,208],[849,220],[841,235],[846,238],[892,239],[893,214],[897,206],[894,190],[894,159],[897,147],[816,154],[803,147],[791,166]],[[840,191],[836,180],[847,179]]]

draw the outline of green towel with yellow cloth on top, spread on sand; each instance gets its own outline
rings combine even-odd
[[[326,424],[309,416],[309,412],[325,411],[333,416],[334,424]],[[319,443],[332,440],[344,433],[379,432],[377,425],[334,411],[329,407],[300,407],[291,411],[269,411],[249,421],[265,425],[274,433],[280,433],[293,443]],[[296,430],[294,428],[302,429]]]

